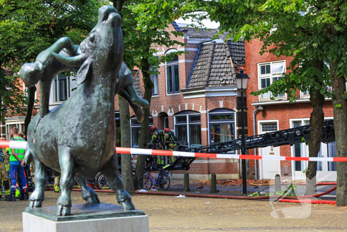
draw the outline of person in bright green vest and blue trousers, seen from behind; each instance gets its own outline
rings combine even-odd
[[[11,141],[24,141],[25,140],[18,135],[18,129],[16,127],[11,128],[10,135],[13,136]],[[28,184],[25,178],[24,173],[24,149],[10,149],[9,150],[9,178],[11,180],[11,194],[6,201],[16,201],[16,175],[19,173],[19,177],[22,181],[22,189],[20,190],[20,200],[26,201],[27,200],[27,194],[28,191]]]

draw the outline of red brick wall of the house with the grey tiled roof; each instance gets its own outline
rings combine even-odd
[[[168,31],[173,31],[174,28],[172,25],[169,26]],[[179,42],[186,43],[187,41],[182,37],[174,37],[172,35],[172,39],[177,40]],[[198,44],[186,44],[186,48],[195,48],[198,49]],[[158,47],[156,47],[158,50]],[[159,47],[159,52],[168,51],[171,48],[167,47]],[[179,49],[183,48],[182,46],[174,45],[172,48]],[[196,51],[189,51],[188,54],[179,55],[178,60],[194,60],[196,56]],[[160,55],[160,56],[164,56]],[[189,73],[191,71],[193,63],[191,62],[183,62],[179,63],[179,88],[185,89],[187,84],[187,79]],[[165,65],[159,67],[158,71],[160,72],[158,76],[159,82],[159,96],[153,96],[151,99],[150,112],[151,115],[155,116],[153,118],[154,126],[158,129],[164,129],[164,117],[167,117],[169,114],[169,128],[174,129],[174,118],[172,114],[176,114],[180,111],[184,110],[193,110],[193,111],[204,111],[213,110],[220,108],[220,101],[223,101],[223,108],[229,108],[235,110],[235,96],[221,96],[221,97],[199,97],[199,98],[191,98],[191,99],[183,99],[183,94],[180,92],[179,94],[167,95],[166,92],[166,72]],[[142,73],[140,72],[140,86],[141,92],[144,92]],[[116,106],[117,107],[117,106]],[[133,116],[134,112],[130,109],[130,116]],[[208,120],[207,113],[201,114],[201,128],[205,129],[201,131],[201,142],[202,145],[208,145]],[[207,130],[206,130],[207,129]],[[197,158],[197,160],[208,160],[208,158]],[[212,159],[211,159],[212,160]],[[184,171],[174,171],[175,174],[183,174]],[[192,163],[189,169],[190,174],[237,174],[238,167],[237,162],[221,162],[221,163]]]

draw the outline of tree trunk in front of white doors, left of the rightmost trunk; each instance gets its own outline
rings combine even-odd
[[[322,71],[323,61],[316,59],[315,68]],[[319,78],[317,77],[316,80]],[[320,83],[322,84],[322,83]],[[321,135],[322,127],[324,123],[324,112],[323,105],[325,101],[325,96],[317,91],[317,94],[313,94],[314,88],[310,89],[310,100],[313,107],[311,117],[310,117],[310,143],[308,145],[309,157],[318,157],[319,150],[321,148]],[[317,175],[317,162],[309,161],[308,169],[306,171],[306,192],[305,195],[314,195],[317,193],[316,187],[316,175]]]

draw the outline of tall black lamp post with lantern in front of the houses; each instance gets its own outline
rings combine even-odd
[[[237,90],[241,92],[241,128],[242,128],[242,148],[241,155],[246,154],[246,147],[244,144],[244,109],[246,108],[243,103],[243,92],[247,89],[248,75],[243,73],[243,70],[240,70],[239,74],[236,74],[236,87]],[[246,159],[242,159],[242,194],[247,194],[247,178],[246,178]]]

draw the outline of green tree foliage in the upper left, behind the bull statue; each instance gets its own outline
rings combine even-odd
[[[95,25],[100,1],[0,0],[0,97],[3,120],[7,111],[25,113],[27,94],[19,88],[19,69],[58,38],[79,44]],[[12,70],[13,77],[5,76]]]

